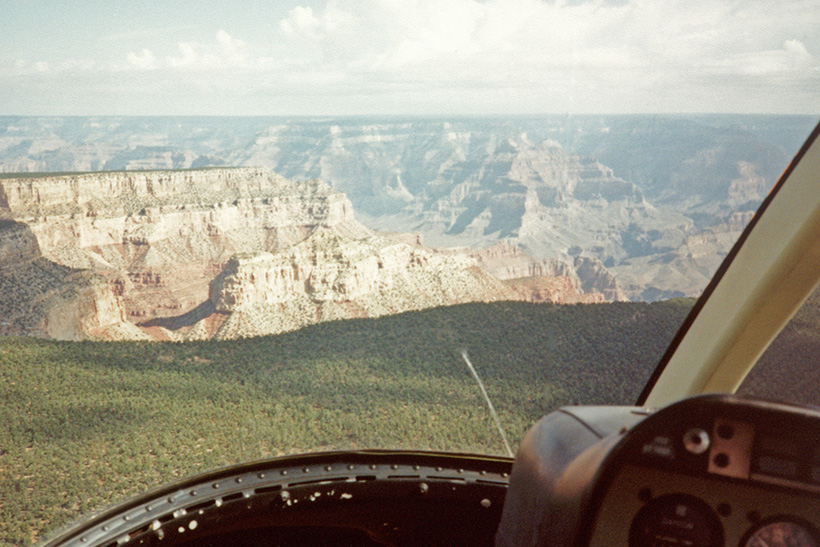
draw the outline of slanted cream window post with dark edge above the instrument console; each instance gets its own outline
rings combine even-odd
[[[820,123],[721,263],[636,404],[734,393],[820,283],[820,238],[812,237],[819,233]]]

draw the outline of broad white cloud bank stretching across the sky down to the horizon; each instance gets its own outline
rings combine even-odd
[[[266,23],[13,71],[116,73],[135,94],[172,83],[263,113],[820,110],[816,0],[328,0]]]

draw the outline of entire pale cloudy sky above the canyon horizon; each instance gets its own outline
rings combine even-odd
[[[0,115],[820,113],[817,0],[0,0]]]

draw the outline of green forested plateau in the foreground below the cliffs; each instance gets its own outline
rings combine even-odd
[[[692,301],[464,304],[233,341],[0,338],[0,545],[171,480],[306,451],[503,454],[567,404],[631,404]]]

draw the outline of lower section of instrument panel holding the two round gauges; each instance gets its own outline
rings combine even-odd
[[[590,545],[817,547],[811,522],[818,516],[815,496],[626,466],[604,499]]]

